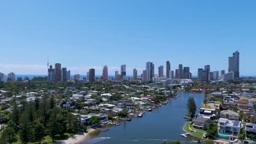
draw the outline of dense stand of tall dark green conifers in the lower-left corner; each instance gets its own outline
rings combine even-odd
[[[21,101],[19,106],[16,100]],[[53,95],[44,94],[41,100],[31,102],[26,97],[14,98],[9,104],[13,112],[6,113],[10,120],[2,131],[1,143],[49,143],[78,133],[74,128],[86,130],[78,117],[56,106]]]

